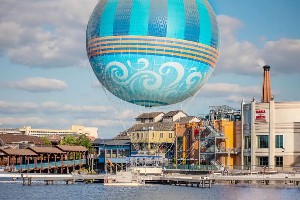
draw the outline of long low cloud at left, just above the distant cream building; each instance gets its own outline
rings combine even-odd
[[[2,117],[0,118],[1,123],[5,125],[14,126],[66,126],[70,125],[70,122],[64,118],[59,119],[42,119],[39,117],[28,117],[28,118],[13,118],[13,117]]]

